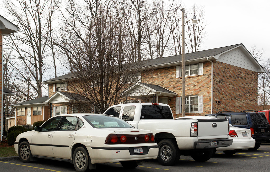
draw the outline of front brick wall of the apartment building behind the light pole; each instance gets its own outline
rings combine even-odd
[[[182,95],[182,79],[176,78],[176,67],[168,67],[161,69],[154,69],[147,74],[142,73],[143,83],[149,83],[154,85],[159,85],[170,91],[177,93],[175,97],[168,97],[171,101],[168,100],[168,105],[171,107],[171,110],[174,114],[174,117],[181,117],[182,114],[175,113],[175,98]],[[185,77],[185,96],[191,95],[202,95],[203,96],[203,113],[186,113],[186,116],[191,115],[204,115],[211,113],[211,63],[203,63],[203,75],[196,76],[187,76]],[[159,98],[165,96],[158,96]],[[180,109],[181,109],[180,104]]]

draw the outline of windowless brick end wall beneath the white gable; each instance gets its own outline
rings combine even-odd
[[[213,113],[257,110],[257,72],[214,61]]]

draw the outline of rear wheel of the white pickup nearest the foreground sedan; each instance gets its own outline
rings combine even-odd
[[[172,166],[180,159],[177,143],[171,139],[164,139],[158,143],[158,162],[163,166]]]

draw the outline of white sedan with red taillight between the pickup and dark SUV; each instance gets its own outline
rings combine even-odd
[[[233,155],[237,150],[253,148],[256,143],[256,141],[252,139],[250,129],[234,127],[231,124],[229,136],[230,139],[233,139],[232,145],[216,148],[217,151],[223,151],[223,153],[227,155]]]

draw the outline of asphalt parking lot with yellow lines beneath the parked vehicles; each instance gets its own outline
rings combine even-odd
[[[157,172],[157,171],[269,171],[270,143],[262,143],[256,151],[244,149],[234,155],[228,156],[223,152],[217,151],[215,156],[206,162],[196,162],[190,156],[181,156],[175,166],[162,166],[157,160],[144,162],[138,167],[128,170],[129,172]],[[31,163],[22,163],[19,158],[0,158],[0,171],[3,172],[74,172],[76,171],[73,164],[39,159]],[[124,172],[120,163],[98,164],[96,171],[117,171]]]

